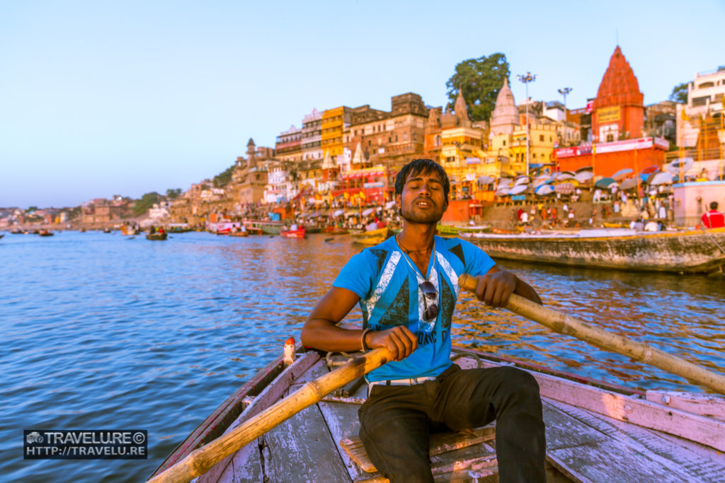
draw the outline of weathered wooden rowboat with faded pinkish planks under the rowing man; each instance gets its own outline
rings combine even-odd
[[[476,350],[454,348],[463,368],[516,365],[539,383],[546,423],[547,481],[722,481],[725,398],[704,393],[629,390]],[[277,358],[234,392],[171,453],[154,475],[191,451],[347,361],[300,353]],[[386,482],[357,437],[362,379],[326,396],[212,466],[199,483]],[[498,481],[495,425],[431,436],[436,482]]]

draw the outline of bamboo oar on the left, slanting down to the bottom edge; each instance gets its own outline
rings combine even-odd
[[[196,476],[206,473],[223,458],[256,440],[302,409],[318,403],[330,392],[354,381],[363,374],[368,374],[391,359],[388,349],[377,348],[328,372],[323,377],[307,382],[294,394],[270,406],[236,429],[218,437],[202,448],[194,450],[174,466],[150,479],[149,483],[188,482]]]

